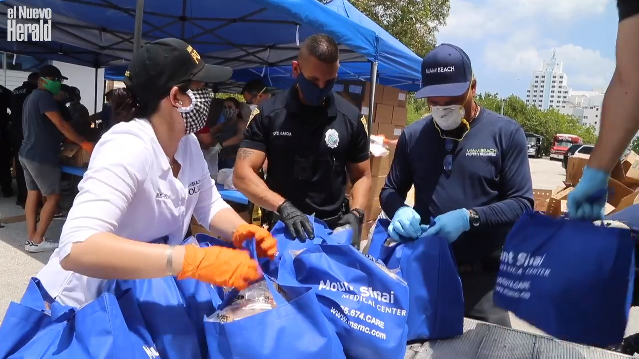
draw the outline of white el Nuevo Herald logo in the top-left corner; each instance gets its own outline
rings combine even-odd
[[[0,0],[1,1],[1,0]],[[13,6],[6,11],[7,41],[51,41],[51,9]]]

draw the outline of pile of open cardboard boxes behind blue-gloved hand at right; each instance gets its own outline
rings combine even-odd
[[[568,158],[566,165],[566,181],[564,188],[558,188],[550,196],[534,190],[535,210],[545,211],[546,215],[558,216],[566,214],[568,194],[579,183],[583,167],[588,162],[589,155],[576,153]],[[543,196],[547,199],[543,199]],[[537,202],[539,201],[539,206]],[[639,156],[631,152],[617,162],[610,172],[608,181],[608,200],[604,207],[604,215],[615,213],[624,208],[639,204]]]

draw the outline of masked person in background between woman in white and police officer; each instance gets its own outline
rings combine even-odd
[[[213,146],[213,152],[218,153],[218,169],[233,168],[237,157],[240,142],[244,139],[244,130],[247,121],[240,112],[240,102],[233,97],[224,100],[222,109],[224,122],[211,128],[211,134],[217,144]]]

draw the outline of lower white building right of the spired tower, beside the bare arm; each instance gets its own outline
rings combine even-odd
[[[599,135],[601,125],[601,103],[604,91],[570,91],[564,99],[559,112],[573,115],[580,119],[582,125],[594,126],[595,133]]]

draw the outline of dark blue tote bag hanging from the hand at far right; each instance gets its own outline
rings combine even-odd
[[[619,344],[634,244],[627,229],[524,213],[504,244],[495,304],[558,339]]]

